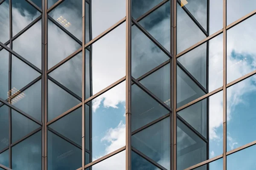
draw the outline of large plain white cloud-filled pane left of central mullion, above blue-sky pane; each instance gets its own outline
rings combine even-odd
[[[106,34],[90,46],[90,53],[85,53],[86,61],[90,55],[90,64],[86,65],[92,75],[85,73],[86,84],[90,84],[92,95],[108,87],[125,76],[125,23]],[[89,60],[90,60],[89,59]],[[88,82],[88,81],[91,82]]]

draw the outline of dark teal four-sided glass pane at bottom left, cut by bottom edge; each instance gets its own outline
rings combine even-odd
[[[40,170],[42,164],[41,131],[12,147],[12,170]]]

